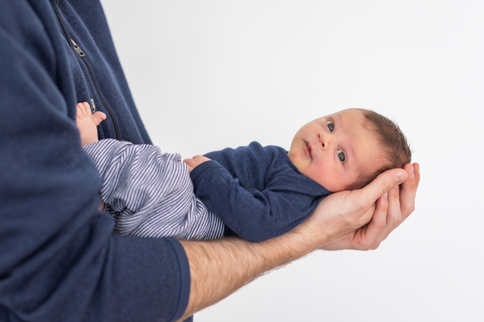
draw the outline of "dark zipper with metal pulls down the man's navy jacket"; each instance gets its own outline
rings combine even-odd
[[[59,0],[57,0],[57,1],[59,1]],[[114,115],[113,110],[111,109],[109,104],[106,102],[106,99],[105,99],[103,93],[101,92],[101,90],[97,86],[96,77],[94,76],[94,72],[92,71],[91,65],[89,64],[89,62],[87,61],[87,59],[85,57],[86,55],[81,50],[81,48],[79,48],[79,46],[77,46],[77,44],[74,42],[74,40],[72,40],[71,35],[69,33],[69,29],[67,29],[67,26],[64,22],[64,18],[62,18],[61,12],[59,11],[59,6],[58,6],[57,1],[56,0],[50,0],[50,2],[52,3],[52,6],[54,7],[54,11],[57,15],[57,19],[59,20],[59,23],[61,24],[61,28],[64,31],[67,42],[69,43],[69,46],[72,48],[72,50],[75,51],[79,55],[79,57],[84,61],[84,63],[86,64],[86,67],[88,68],[89,74],[91,76],[92,84],[94,84],[94,88],[96,89],[97,95],[99,96],[101,103],[104,105],[107,112],[111,116],[111,119],[113,120],[114,130],[116,132],[116,139],[121,141],[121,131],[120,131],[120,128],[119,128],[119,125],[118,125],[118,120],[116,119],[116,116]],[[91,90],[89,90],[89,86],[88,86],[88,91],[89,91],[89,93],[91,93]],[[94,105],[94,100],[92,98],[91,98],[91,107],[92,107],[92,111],[95,112],[96,106]]]

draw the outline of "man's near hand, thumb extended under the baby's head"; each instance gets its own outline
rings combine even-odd
[[[398,189],[407,178],[405,170],[392,169],[363,189],[333,193],[319,203],[304,225],[300,225],[301,229],[311,225],[317,234],[337,238],[329,245],[321,245],[322,249],[371,249],[386,224],[388,191]],[[368,222],[368,226],[360,228]]]

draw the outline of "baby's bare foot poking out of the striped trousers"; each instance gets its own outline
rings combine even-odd
[[[91,114],[91,106],[87,102],[76,105],[76,125],[81,133],[81,146],[97,142],[96,126],[106,119],[106,114],[97,111]]]

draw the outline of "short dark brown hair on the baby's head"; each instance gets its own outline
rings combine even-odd
[[[361,189],[375,179],[379,174],[394,168],[403,168],[410,163],[412,152],[408,146],[407,138],[397,124],[390,119],[374,111],[359,109],[364,116],[363,126],[376,134],[379,141],[380,155],[375,155],[376,161],[380,162],[380,168],[370,175],[361,174],[355,183],[347,187],[347,190]]]

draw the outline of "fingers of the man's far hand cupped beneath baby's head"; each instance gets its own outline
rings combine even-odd
[[[377,249],[393,229],[415,209],[420,166],[418,163],[407,163],[404,169],[408,173],[408,179],[402,183],[402,188],[396,186],[378,198],[373,218],[367,226],[345,234],[321,249]]]

